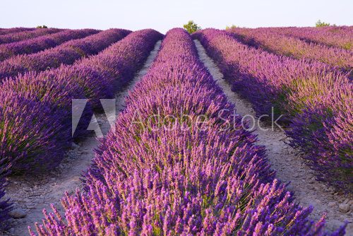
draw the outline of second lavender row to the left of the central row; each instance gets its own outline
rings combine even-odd
[[[0,63],[0,81],[26,71],[45,71],[57,68],[61,64],[73,64],[81,57],[97,54],[130,32],[130,30],[121,29],[104,30],[82,39],[70,40],[42,52],[11,57]]]

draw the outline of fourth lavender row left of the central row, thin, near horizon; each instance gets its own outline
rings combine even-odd
[[[15,33],[8,33],[6,35],[0,35],[0,45],[3,43],[18,42],[21,40],[29,40],[34,37],[39,37],[42,35],[49,35],[52,33],[58,33],[61,29],[55,28],[45,28],[45,29],[35,29],[35,30],[25,30]]]

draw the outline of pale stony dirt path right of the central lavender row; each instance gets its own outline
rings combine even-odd
[[[194,40],[198,49],[198,54],[203,64],[208,68],[217,84],[220,85],[229,102],[235,104],[237,113],[241,116],[250,115],[255,117],[251,104],[239,98],[237,93],[231,90],[230,85],[223,79],[222,73],[212,59],[208,57],[205,49],[198,40]],[[251,89],[251,88],[249,88]],[[253,126],[253,119],[250,119],[250,126]],[[260,126],[264,131],[258,129]],[[337,194],[331,187],[327,187],[321,182],[316,181],[313,171],[305,165],[305,160],[300,157],[299,151],[293,149],[287,143],[287,136],[280,129],[272,130],[262,122],[256,120],[254,133],[258,135],[257,144],[266,148],[268,160],[276,171],[277,178],[282,182],[290,182],[287,189],[294,192],[294,196],[301,206],[313,206],[311,218],[318,220],[327,214],[326,225],[328,230],[334,230],[345,221],[347,225],[346,235],[353,235],[353,198],[352,195],[344,196]]]

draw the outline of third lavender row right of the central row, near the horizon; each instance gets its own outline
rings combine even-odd
[[[298,37],[307,42],[316,42],[323,45],[341,47],[353,50],[353,27],[352,26],[330,26],[330,27],[284,27],[265,28],[273,33]]]

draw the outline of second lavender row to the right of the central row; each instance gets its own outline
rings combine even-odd
[[[353,69],[353,51],[351,50],[305,42],[297,37],[275,33],[268,28],[234,28],[229,32],[234,33],[238,39],[248,45],[262,47],[275,54],[284,54],[296,59],[317,60],[337,66],[344,71]]]

